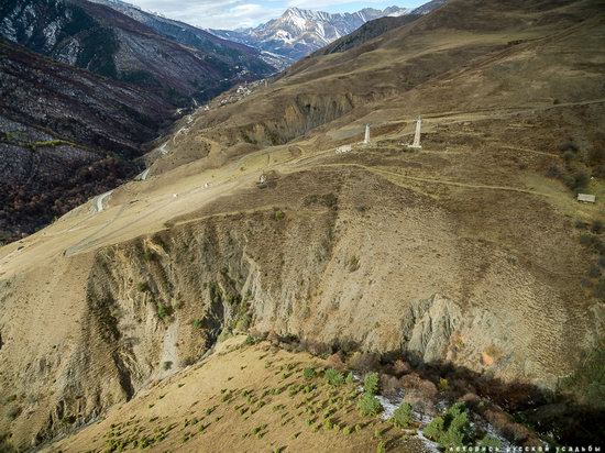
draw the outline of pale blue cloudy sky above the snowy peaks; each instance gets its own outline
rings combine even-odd
[[[397,5],[414,8],[428,0],[125,0],[146,10],[158,12],[205,29],[254,26],[279,16],[288,7],[328,12],[353,12],[363,8]]]

